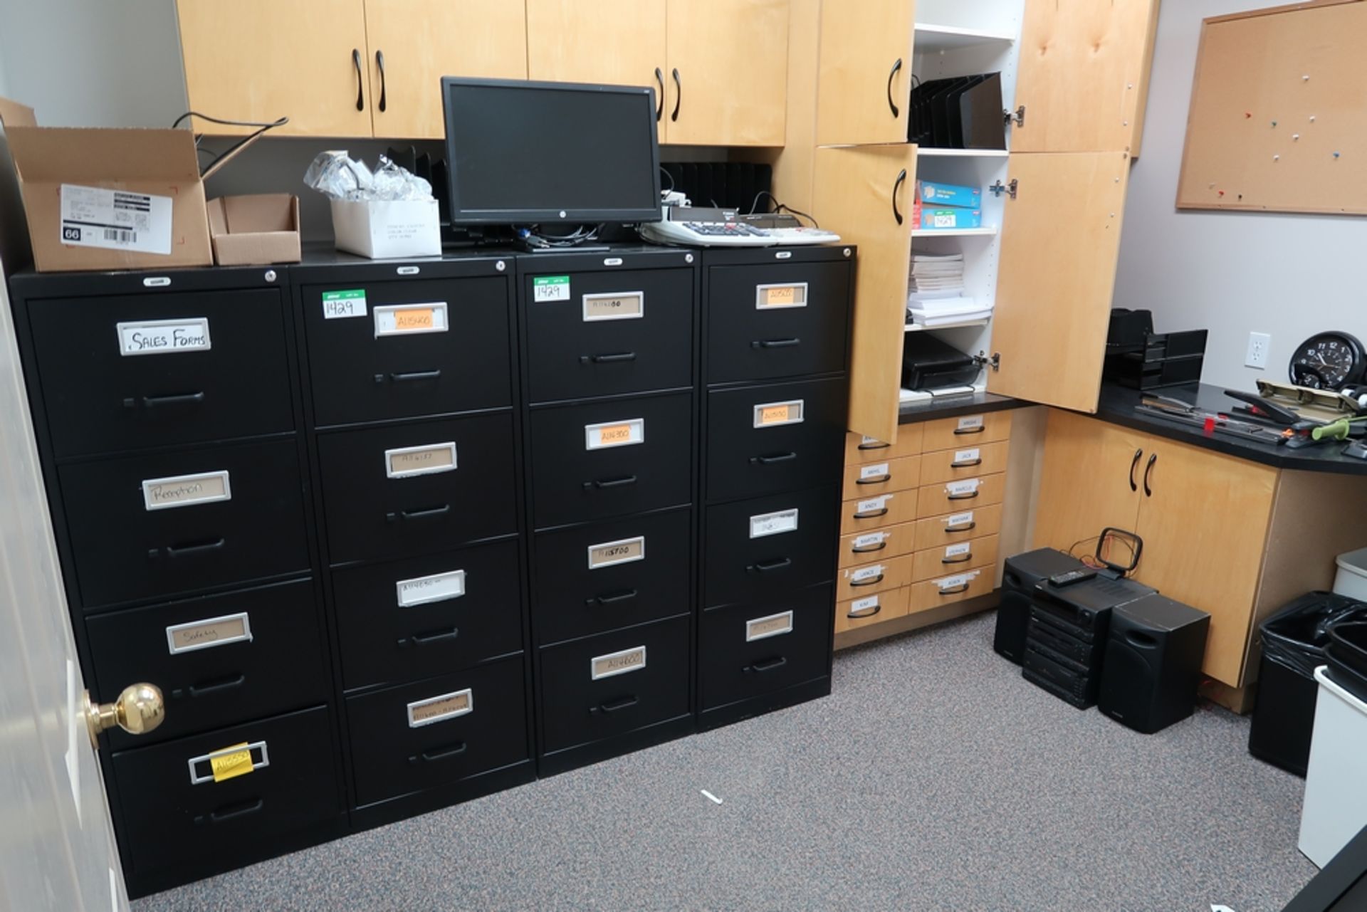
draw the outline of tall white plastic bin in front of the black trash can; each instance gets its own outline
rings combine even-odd
[[[1319,700],[1310,741],[1300,850],[1325,867],[1367,826],[1367,703],[1315,669]]]

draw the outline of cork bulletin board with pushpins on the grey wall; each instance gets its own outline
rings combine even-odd
[[[1367,1],[1202,23],[1177,208],[1367,215]]]

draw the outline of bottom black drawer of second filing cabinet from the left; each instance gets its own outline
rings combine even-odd
[[[522,659],[347,697],[358,807],[530,759]]]

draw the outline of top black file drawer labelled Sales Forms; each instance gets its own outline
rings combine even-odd
[[[294,429],[278,289],[29,309],[59,457]]]

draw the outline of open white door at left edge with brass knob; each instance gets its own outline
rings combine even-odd
[[[124,912],[5,284],[0,264],[0,908]]]

